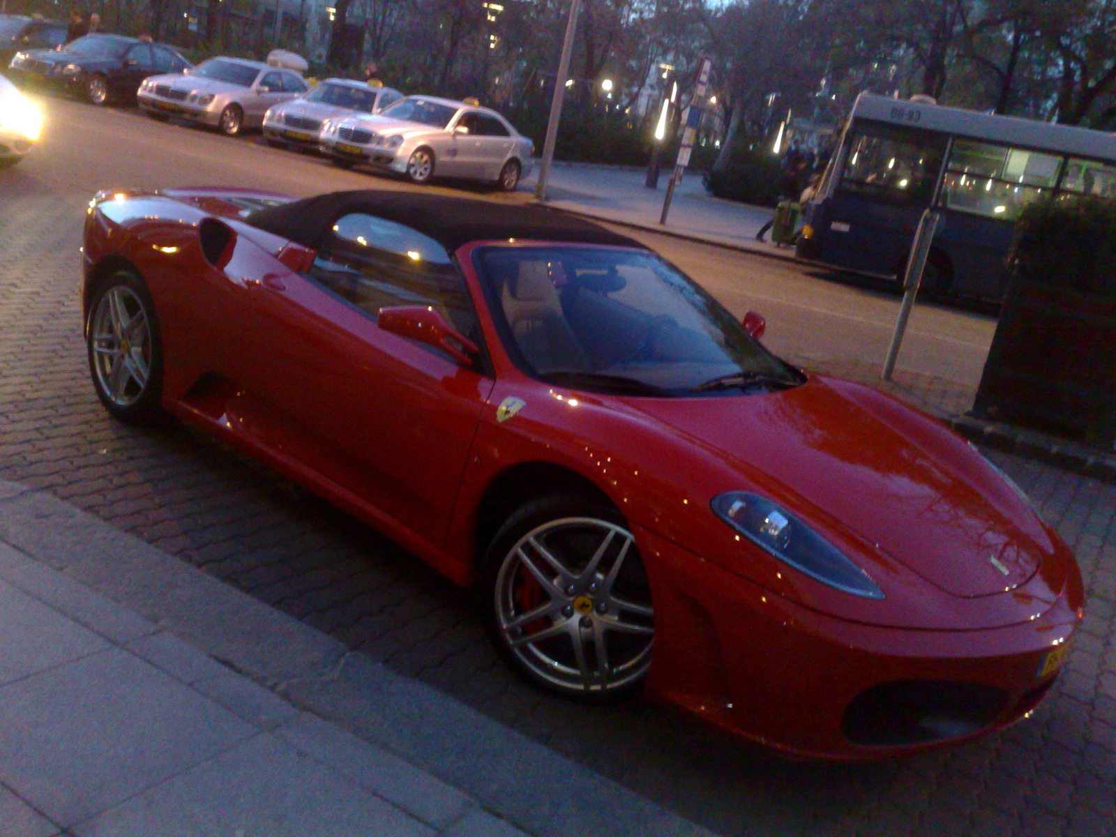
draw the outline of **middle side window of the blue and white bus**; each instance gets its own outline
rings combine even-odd
[[[990,143],[956,141],[941,203],[1000,221],[1016,221],[1031,201],[1058,183],[1061,157]]]

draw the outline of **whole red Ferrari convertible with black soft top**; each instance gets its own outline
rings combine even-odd
[[[205,427],[479,586],[540,686],[874,758],[1030,713],[1081,618],[1072,555],[974,449],[595,224],[103,192],[84,252],[112,415]]]

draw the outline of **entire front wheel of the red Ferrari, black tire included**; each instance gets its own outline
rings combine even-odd
[[[485,550],[480,580],[492,644],[529,682],[594,703],[642,685],[654,641],[651,588],[616,509],[581,494],[525,503]]]

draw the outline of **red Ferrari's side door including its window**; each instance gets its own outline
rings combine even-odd
[[[407,227],[353,213],[333,229],[305,273],[260,287],[267,357],[251,386],[309,440],[318,470],[440,543],[493,382],[376,317],[427,305],[479,341],[468,287],[445,250]]]

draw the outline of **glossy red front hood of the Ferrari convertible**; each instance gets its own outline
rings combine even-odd
[[[867,387],[811,378],[782,393],[642,400],[641,410],[738,470],[741,484],[724,490],[767,493],[952,596],[1011,590],[1052,554],[1037,516],[977,452]]]

